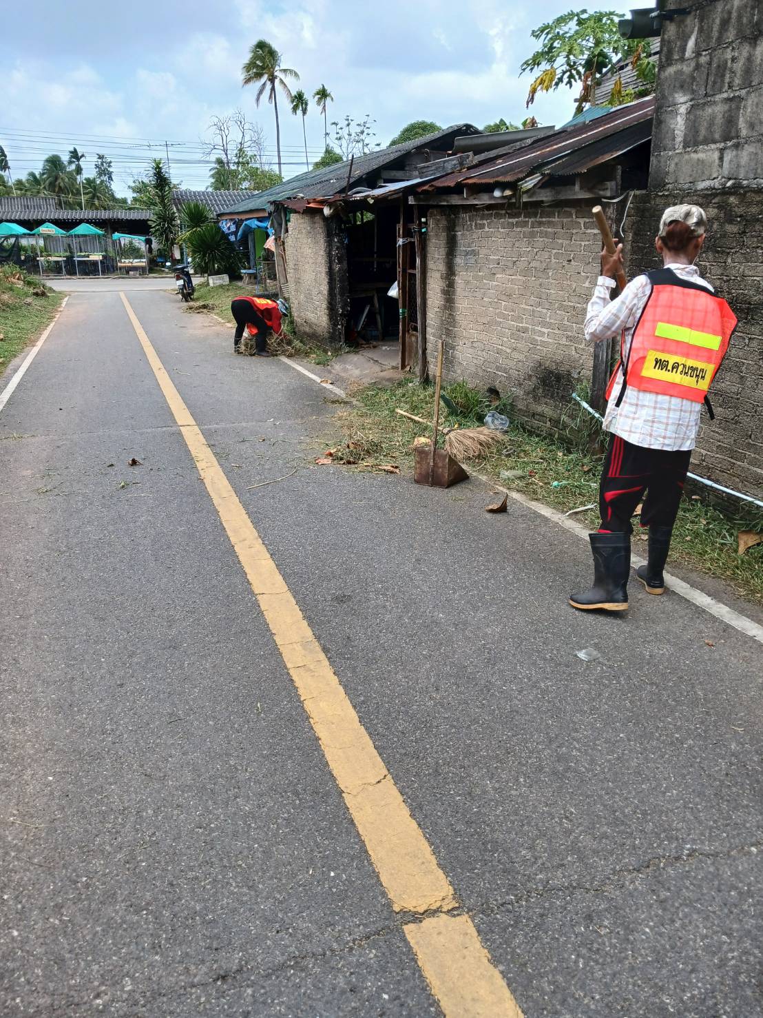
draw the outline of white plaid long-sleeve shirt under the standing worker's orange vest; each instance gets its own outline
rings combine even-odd
[[[667,265],[666,269],[692,283],[699,283],[713,292],[693,265]],[[614,280],[599,276],[586,315],[586,339],[596,341],[620,336],[625,329],[625,351],[628,356],[634,329],[649,298],[651,283],[646,276],[637,276],[620,296],[609,299]],[[620,407],[614,405],[623,385],[623,371],[618,372],[611,396],[604,413],[604,429],[620,435],[626,442],[648,449],[694,449],[700,426],[701,403],[678,396],[663,396],[641,389],[626,389]]]

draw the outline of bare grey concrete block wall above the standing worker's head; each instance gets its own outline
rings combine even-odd
[[[649,186],[763,186],[763,3],[669,0]]]

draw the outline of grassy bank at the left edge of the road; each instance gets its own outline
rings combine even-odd
[[[0,375],[50,323],[61,294],[14,265],[0,266]]]

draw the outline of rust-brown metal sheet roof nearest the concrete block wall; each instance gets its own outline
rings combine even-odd
[[[575,165],[577,160],[581,166],[587,168],[587,158],[590,156],[597,162],[603,162],[623,151],[633,148],[633,142],[628,134],[628,129],[636,125],[645,124],[647,134],[641,138],[645,140],[651,132],[651,119],[654,114],[654,97],[641,99],[636,103],[629,103],[627,106],[617,107],[604,116],[595,120],[583,123],[575,127],[568,127],[538,142],[525,146],[522,149],[507,153],[490,160],[488,163],[475,169],[470,167],[457,173],[448,174],[437,180],[423,184],[419,190],[433,190],[441,187],[456,187],[460,184],[508,184],[516,180],[521,180],[531,172],[537,172],[540,168],[547,171],[553,167],[557,161],[569,160],[570,165]],[[620,135],[620,138],[619,138]],[[627,144],[627,149],[621,149],[620,144]],[[639,144],[638,142],[635,144]],[[585,150],[591,150],[586,153]],[[550,172],[556,172],[555,168]],[[567,173],[579,173],[582,169],[566,170]]]

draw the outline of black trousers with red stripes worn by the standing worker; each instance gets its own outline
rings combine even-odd
[[[691,458],[691,449],[647,449],[612,436],[599,487],[600,532],[633,533],[631,517],[642,499],[642,526],[671,527]]]

